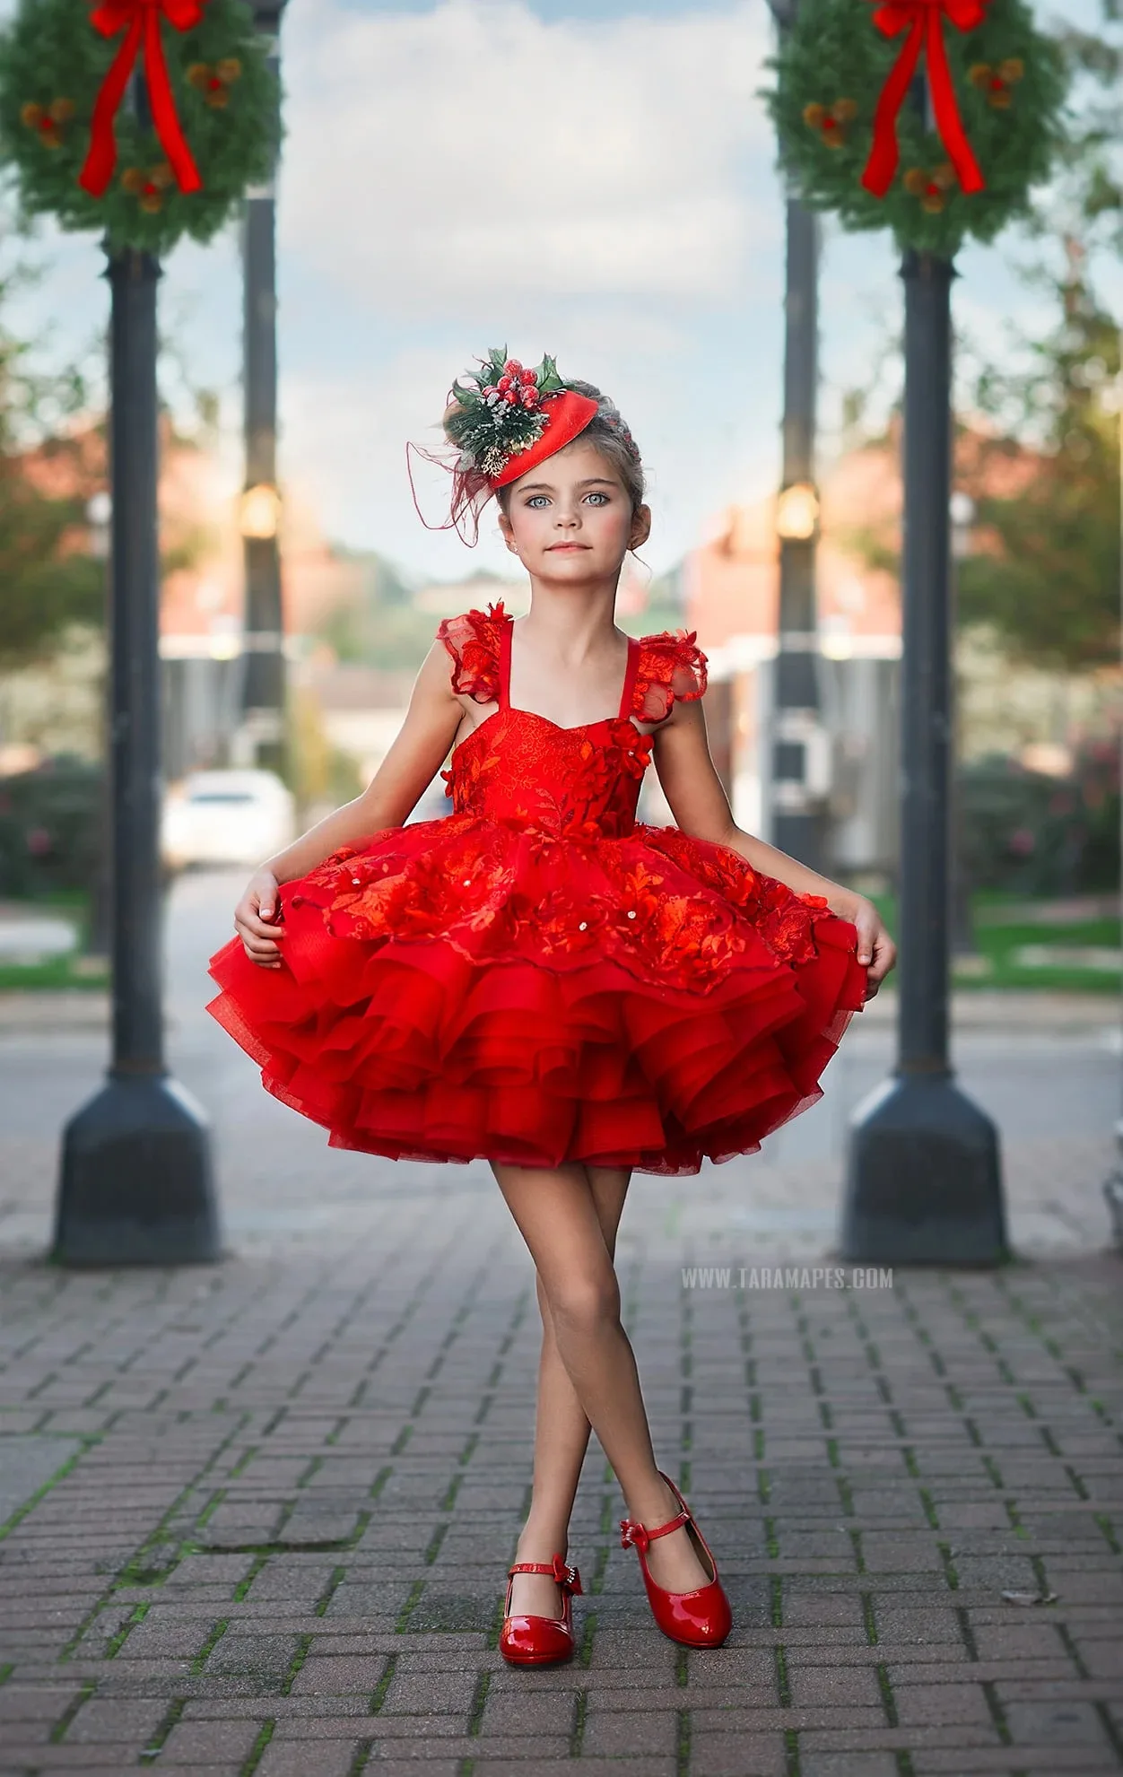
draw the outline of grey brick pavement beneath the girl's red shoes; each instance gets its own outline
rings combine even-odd
[[[0,1544],[0,1777],[1123,1765],[1114,1255],[753,1290],[743,1240],[729,1287],[684,1288],[713,1228],[679,1226],[682,1182],[636,1180],[627,1326],[736,1630],[713,1653],[659,1637],[593,1445],[579,1658],[517,1672],[496,1633],[528,1498],[528,1262],[483,1169],[380,1183],[217,1267],[4,1260],[27,1496]]]

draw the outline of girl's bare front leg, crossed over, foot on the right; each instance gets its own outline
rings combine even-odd
[[[673,1518],[679,1503],[656,1466],[636,1359],[620,1326],[617,1274],[588,1173],[581,1166],[540,1171],[499,1164],[492,1164],[492,1171],[538,1269],[558,1356],[624,1489],[627,1516],[649,1528],[661,1525]],[[549,1430],[546,1438],[551,1439]],[[569,1448],[572,1452],[572,1443]],[[522,1548],[521,1541],[521,1553]],[[524,1558],[549,1560],[551,1553],[528,1548]],[[661,1537],[647,1558],[654,1580],[673,1592],[693,1590],[711,1578],[686,1530]],[[556,1605],[542,1614],[554,1612]]]

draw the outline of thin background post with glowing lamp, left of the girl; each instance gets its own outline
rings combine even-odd
[[[254,23],[279,73],[284,0],[254,0]],[[243,741],[259,766],[284,769],[284,611],[277,524],[277,254],[275,165],[251,188],[243,222],[245,377],[245,673]]]

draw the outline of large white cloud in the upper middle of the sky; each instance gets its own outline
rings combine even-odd
[[[768,12],[544,23],[517,0],[286,23],[283,240],[352,300],[713,300],[761,222]]]

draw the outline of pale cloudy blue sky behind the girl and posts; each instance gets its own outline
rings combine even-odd
[[[0,0],[0,16],[11,0]],[[1043,18],[1055,12],[1041,4]],[[1095,0],[1064,0],[1091,21]],[[673,565],[780,462],[784,211],[757,91],[766,0],[290,0],[279,178],[281,474],[325,533],[407,570],[505,569],[423,530],[405,441],[434,442],[453,377],[492,345],[606,389],[650,473],[645,558]],[[48,352],[96,338],[87,236],[41,229],[27,320]],[[1002,348],[1041,297],[1015,231],[960,258],[956,323]],[[826,226],[821,416],[899,325],[888,236]],[[219,391],[240,426],[236,231],[181,245],[160,290],[165,389]],[[12,323],[20,322],[14,311]]]

